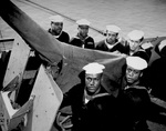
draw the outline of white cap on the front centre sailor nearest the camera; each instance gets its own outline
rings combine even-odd
[[[86,74],[102,73],[103,69],[105,69],[105,67],[103,64],[97,63],[97,62],[92,62],[92,63],[89,63],[89,64],[83,67],[83,70],[85,70]]]

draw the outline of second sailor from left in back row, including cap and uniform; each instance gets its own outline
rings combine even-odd
[[[76,21],[79,33],[70,40],[70,44],[80,48],[94,49],[94,39],[89,36],[90,22],[86,19]]]

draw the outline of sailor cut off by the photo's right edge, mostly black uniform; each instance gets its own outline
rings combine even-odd
[[[152,94],[166,101],[166,40],[156,46],[155,51],[160,58],[154,60],[149,67],[148,79]]]

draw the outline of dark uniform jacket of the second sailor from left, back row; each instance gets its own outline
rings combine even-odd
[[[94,49],[94,39],[90,36],[87,36],[85,39],[81,39],[77,34],[76,37],[73,37],[70,41],[70,44],[81,47],[81,48],[87,48],[87,49]]]

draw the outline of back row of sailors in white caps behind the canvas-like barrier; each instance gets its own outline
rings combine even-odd
[[[120,37],[120,27],[108,24],[106,26],[105,30],[105,39],[96,42],[91,36],[89,36],[91,22],[86,19],[76,21],[77,34],[72,38],[70,38],[69,33],[63,30],[63,18],[61,16],[52,16],[50,17],[50,21],[51,28],[49,29],[49,32],[61,42],[86,49],[95,49],[108,52],[117,51],[128,56],[135,56],[136,52],[139,52],[139,56],[144,57],[145,60],[149,60],[153,44],[147,43],[142,46],[144,32],[141,30],[131,31],[127,34],[128,40],[125,40],[124,38]]]

